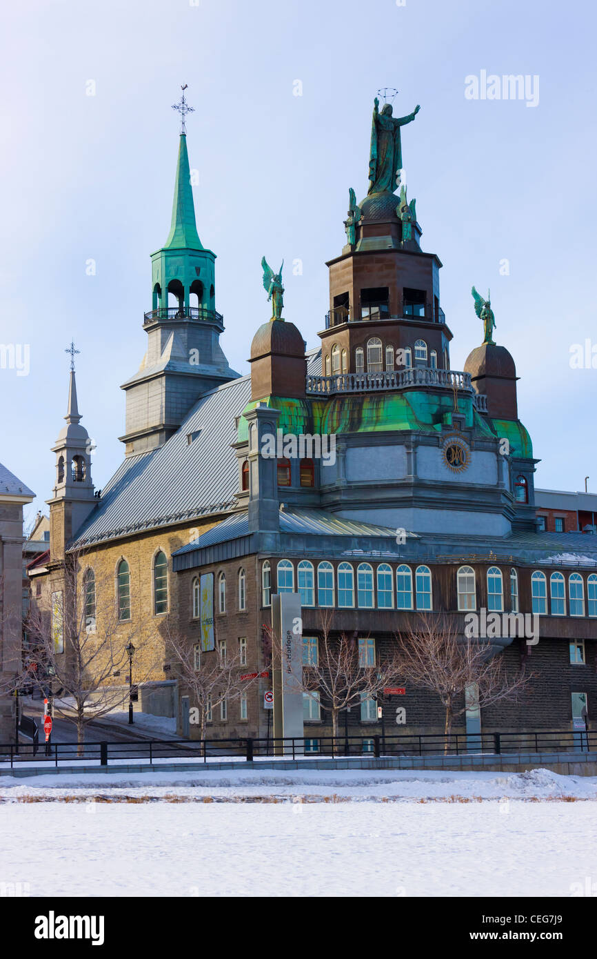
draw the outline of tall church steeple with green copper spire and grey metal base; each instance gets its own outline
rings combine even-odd
[[[151,310],[144,316],[147,353],[126,390],[126,456],[162,446],[201,393],[239,376],[228,365],[216,311],[216,254],[202,246],[195,222],[182,99],[172,225],[164,246],[151,254]]]

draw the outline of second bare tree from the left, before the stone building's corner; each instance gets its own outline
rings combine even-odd
[[[200,738],[205,739],[208,715],[222,702],[234,702],[243,692],[252,689],[259,679],[255,669],[241,662],[241,649],[233,652],[216,643],[209,652],[200,643],[190,642],[175,626],[167,622],[165,635],[168,654],[172,656],[181,686],[189,691],[199,713]]]

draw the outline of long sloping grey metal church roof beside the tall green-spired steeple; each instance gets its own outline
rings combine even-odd
[[[308,372],[321,368],[320,350],[307,354]],[[227,512],[236,503],[235,417],[251,399],[243,376],[199,397],[164,446],[130,456],[102,490],[102,498],[77,530],[73,545],[102,542],[138,530]],[[198,433],[189,444],[187,436]]]

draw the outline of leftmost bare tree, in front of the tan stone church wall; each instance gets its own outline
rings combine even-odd
[[[85,726],[128,698],[122,680],[115,686],[114,679],[124,672],[126,680],[129,644],[135,641],[135,685],[149,679],[157,661],[153,641],[159,637],[152,618],[129,596],[134,617],[126,619],[113,578],[99,576],[98,567],[83,551],[69,553],[62,588],[52,596],[50,608],[32,604],[26,624],[30,648],[20,678],[22,685],[34,683],[41,690],[52,685],[55,713],[75,722],[80,754]],[[94,570],[92,587],[84,579],[89,569]]]

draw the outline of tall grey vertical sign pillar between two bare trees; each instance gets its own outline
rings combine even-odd
[[[271,597],[273,626],[274,739],[302,739],[303,730],[303,629],[301,597],[298,593],[277,593]],[[292,755],[292,743],[274,743],[276,755]],[[303,750],[296,743],[295,752]]]

